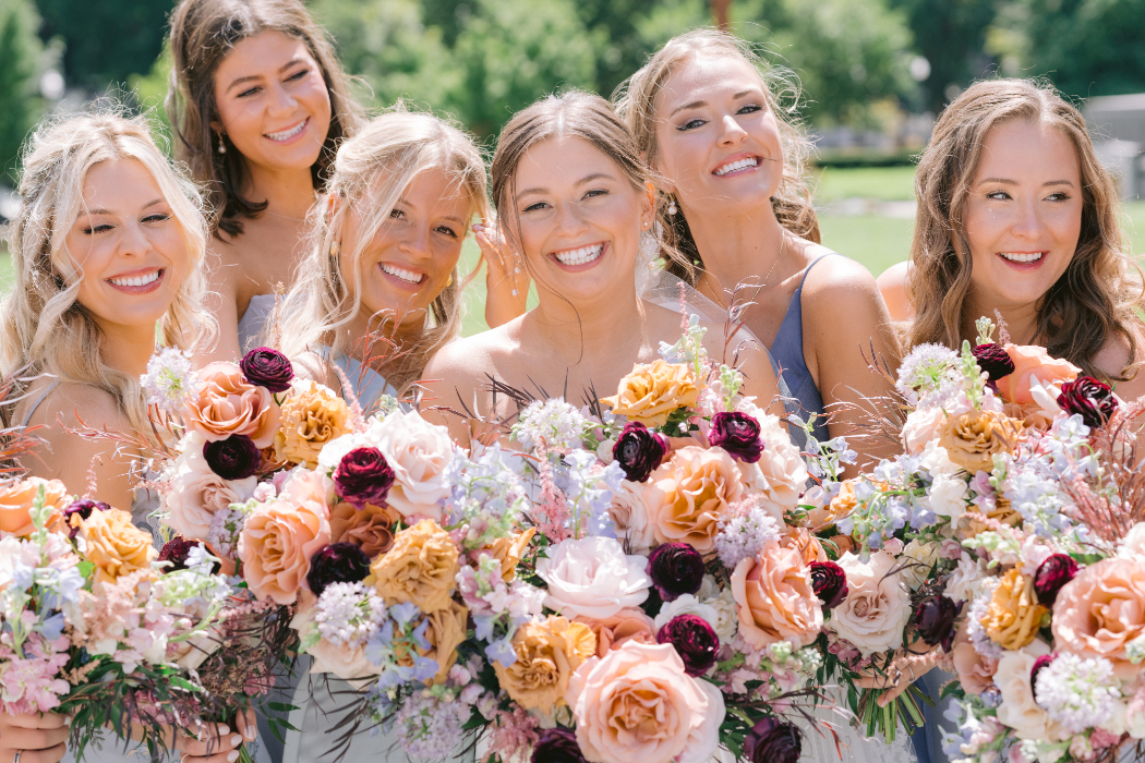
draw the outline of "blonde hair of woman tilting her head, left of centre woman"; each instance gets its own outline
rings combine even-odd
[[[374,117],[339,146],[326,198],[335,196],[341,204],[327,208],[329,204],[319,200],[314,205],[307,225],[307,255],[298,265],[294,285],[282,308],[276,311],[285,316],[282,350],[287,356],[298,357],[319,344],[330,347],[331,358],[353,349],[348,332],[338,328],[362,310],[358,263],[402,193],[427,169],[450,173],[456,186],[464,189],[471,200],[471,215],[488,218],[485,164],[481,152],[461,129],[437,117],[412,113],[400,105]],[[358,218],[354,248],[332,256],[335,231],[345,230],[350,209]],[[450,285],[431,303],[420,336],[405,340],[382,361],[382,375],[400,392],[417,381],[429,358],[460,333],[464,286],[455,269]],[[374,318],[382,324],[379,332],[384,334],[392,316]],[[268,333],[274,331],[268,328]]]

